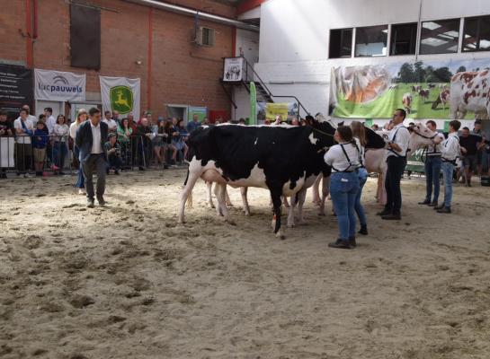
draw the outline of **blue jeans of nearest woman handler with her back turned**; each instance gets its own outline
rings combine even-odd
[[[355,201],[359,192],[357,172],[334,172],[330,180],[330,197],[339,224],[339,239],[348,241],[355,236]]]

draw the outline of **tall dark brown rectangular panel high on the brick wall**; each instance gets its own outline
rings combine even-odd
[[[87,6],[70,5],[71,66],[101,68],[101,12]]]

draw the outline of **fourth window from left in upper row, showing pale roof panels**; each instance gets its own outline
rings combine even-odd
[[[458,52],[459,19],[422,22],[421,54]]]

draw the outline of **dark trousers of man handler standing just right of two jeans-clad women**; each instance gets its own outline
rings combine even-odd
[[[393,215],[400,215],[402,207],[402,191],[400,181],[402,180],[403,172],[405,171],[405,157],[388,157],[387,178],[385,180],[385,188],[387,190],[387,204],[385,211]]]

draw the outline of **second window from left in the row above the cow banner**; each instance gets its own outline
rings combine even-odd
[[[356,29],[356,57],[387,55],[388,25]]]

